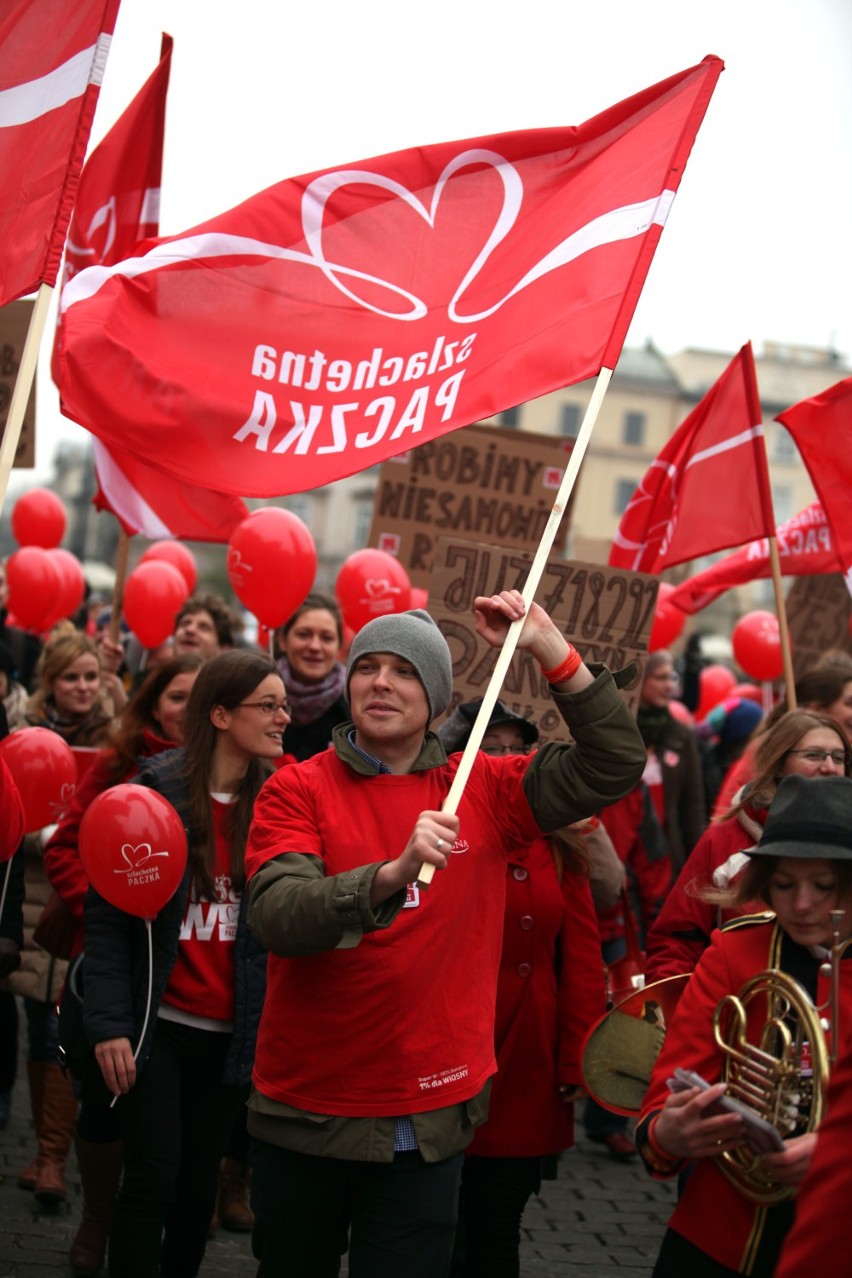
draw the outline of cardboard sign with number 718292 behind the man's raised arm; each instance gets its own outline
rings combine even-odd
[[[452,654],[450,712],[460,702],[485,693],[498,657],[497,649],[476,635],[474,598],[522,589],[531,558],[525,551],[438,538],[429,583],[429,613],[443,631]],[[636,662],[637,677],[622,690],[634,709],[639,702],[658,588],[658,579],[646,573],[551,558],[536,592],[536,602],[586,661],[603,661],[611,670]],[[568,739],[539,665],[528,653],[515,653],[498,695],[516,714],[538,725],[540,744]]]

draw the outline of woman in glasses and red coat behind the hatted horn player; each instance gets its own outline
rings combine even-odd
[[[648,934],[646,982],[692,971],[713,929],[737,912],[720,910],[708,900],[708,889],[710,896],[727,889],[749,864],[746,850],[760,840],[766,809],[782,780],[848,774],[843,730],[828,714],[787,711],[764,732],[755,754],[754,780],[704,832]]]

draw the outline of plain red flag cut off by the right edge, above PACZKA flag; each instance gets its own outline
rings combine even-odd
[[[775,418],[802,455],[852,593],[852,377]]]

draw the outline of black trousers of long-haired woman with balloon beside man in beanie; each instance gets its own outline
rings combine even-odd
[[[195,1278],[218,1163],[245,1089],[222,1084],[230,1034],[158,1020],[135,1086],[118,1102],[124,1178],[111,1278]]]

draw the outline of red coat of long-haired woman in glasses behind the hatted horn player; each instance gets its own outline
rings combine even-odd
[[[713,887],[714,873],[727,868],[726,882],[742,869],[734,861],[727,863],[746,847],[754,847],[763,832],[763,823],[750,808],[728,820],[718,822],[704,831],[686,859],[671,892],[666,897],[646,938],[645,984],[692,971],[710,944],[710,933],[738,914],[761,910],[761,905],[724,910],[711,901],[703,901],[696,889]],[[717,884],[722,886],[722,884]]]

